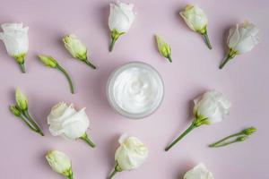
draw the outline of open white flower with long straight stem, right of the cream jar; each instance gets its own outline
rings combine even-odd
[[[193,131],[195,128],[203,124],[220,123],[225,115],[229,114],[231,107],[230,101],[225,98],[221,92],[210,90],[205,92],[202,96],[195,98],[194,115],[195,119],[185,132],[178,136],[178,138],[166,147],[166,151],[171,149],[184,138],[187,133]]]

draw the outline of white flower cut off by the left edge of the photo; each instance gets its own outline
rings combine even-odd
[[[25,56],[28,52],[29,27],[23,27],[22,23],[4,23],[1,25],[0,39],[3,40],[8,55],[13,56],[20,64],[22,72],[25,72]]]

